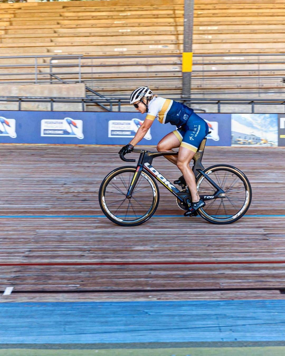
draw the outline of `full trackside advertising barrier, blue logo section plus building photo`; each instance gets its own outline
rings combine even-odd
[[[207,146],[284,146],[285,115],[203,113],[199,116],[211,131]],[[0,142],[125,145],[145,117],[146,114],[133,112],[0,111]],[[155,146],[175,129],[155,120],[139,145]]]

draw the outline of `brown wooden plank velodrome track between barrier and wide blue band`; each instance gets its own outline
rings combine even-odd
[[[232,164],[250,180],[252,203],[236,223],[184,218],[159,185],[155,215],[131,228],[98,203],[102,179],[127,164],[118,150],[0,146],[0,291],[14,287],[1,302],[284,299],[283,148],[205,148],[205,168]],[[179,177],[163,157],[154,166]]]

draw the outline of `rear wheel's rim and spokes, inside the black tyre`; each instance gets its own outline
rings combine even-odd
[[[218,168],[205,172],[226,193],[225,198],[206,200],[201,215],[217,222],[236,220],[245,213],[250,202],[247,180],[235,169]],[[202,176],[197,182],[199,195],[213,195],[216,189]]]

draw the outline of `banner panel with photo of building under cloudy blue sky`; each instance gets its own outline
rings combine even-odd
[[[232,146],[278,146],[278,114],[232,114]]]

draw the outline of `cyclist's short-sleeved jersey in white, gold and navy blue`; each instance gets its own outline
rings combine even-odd
[[[148,104],[148,114],[146,119],[157,119],[161,124],[180,127],[185,124],[193,112],[188,106],[177,101],[165,98],[153,98]]]

